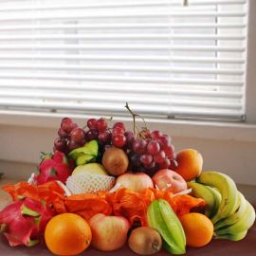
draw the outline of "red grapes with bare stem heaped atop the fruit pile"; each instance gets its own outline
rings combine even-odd
[[[135,124],[135,116],[138,115],[132,115],[134,132],[127,131],[123,122],[116,122],[110,128],[107,119],[88,119],[86,127],[81,128],[72,119],[64,118],[58,131],[59,137],[54,141],[54,151],[68,154],[96,139],[99,142],[100,155],[103,155],[107,147],[122,149],[129,157],[132,172],[144,172],[152,176],[159,169],[175,170],[177,164],[172,138],[159,131],[150,131],[146,127],[139,131]],[[98,161],[101,162],[101,156]]]

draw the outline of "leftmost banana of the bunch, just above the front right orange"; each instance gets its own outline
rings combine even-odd
[[[216,207],[215,195],[211,192],[210,187],[197,182],[187,182],[187,185],[192,189],[192,196],[203,198],[206,201],[205,215],[213,216],[218,210],[218,206]]]

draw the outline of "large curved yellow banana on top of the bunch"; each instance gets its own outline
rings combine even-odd
[[[216,214],[211,218],[213,224],[236,210],[237,188],[234,181],[227,175],[218,172],[203,172],[197,182],[215,187],[219,190],[222,200]]]

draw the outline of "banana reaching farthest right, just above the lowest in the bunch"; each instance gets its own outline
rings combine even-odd
[[[251,206],[251,204],[247,201],[247,209],[241,218],[232,225],[225,226],[221,229],[217,229],[215,231],[216,235],[223,235],[223,234],[236,234],[249,229],[255,221],[255,210]]]

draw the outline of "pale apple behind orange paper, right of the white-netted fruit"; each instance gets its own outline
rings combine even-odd
[[[115,187],[122,187],[133,192],[142,192],[147,188],[154,188],[151,177],[147,174],[121,174],[117,178]]]

